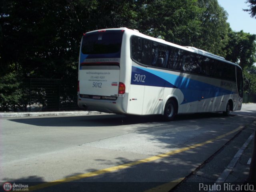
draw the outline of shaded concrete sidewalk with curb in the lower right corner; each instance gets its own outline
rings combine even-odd
[[[254,186],[248,184],[250,163],[254,147],[254,131],[256,120],[246,125],[244,130],[228,142],[219,152],[205,162],[196,172],[186,177],[172,192],[206,191],[253,191]],[[232,155],[233,154],[233,155]],[[200,188],[200,185],[202,188]],[[243,188],[246,185],[248,188]],[[238,189],[241,190],[238,190]],[[220,190],[219,190],[220,189]],[[250,190],[253,189],[253,190]]]

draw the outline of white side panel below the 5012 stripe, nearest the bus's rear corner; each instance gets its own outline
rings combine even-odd
[[[142,115],[145,86],[130,85],[127,113]]]

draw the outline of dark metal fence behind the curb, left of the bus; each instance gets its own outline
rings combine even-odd
[[[5,111],[40,112],[79,110],[77,83],[61,79],[24,79],[21,99]]]

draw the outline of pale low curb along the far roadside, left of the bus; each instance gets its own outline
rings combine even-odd
[[[2,112],[0,118],[4,117],[37,117],[37,116],[82,116],[82,115],[106,114],[98,111],[58,111],[58,112]]]

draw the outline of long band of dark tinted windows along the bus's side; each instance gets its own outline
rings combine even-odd
[[[131,56],[148,66],[236,81],[231,64],[138,36],[131,37]]]

